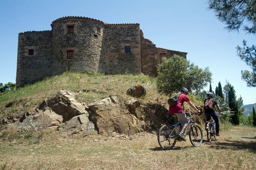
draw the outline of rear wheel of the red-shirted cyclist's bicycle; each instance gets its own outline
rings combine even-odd
[[[164,150],[172,149],[176,143],[176,132],[172,130],[170,125],[163,125],[158,131],[157,140]]]

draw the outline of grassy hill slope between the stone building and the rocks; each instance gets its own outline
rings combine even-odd
[[[131,98],[126,95],[126,91],[137,84],[146,89],[146,95],[140,98],[141,101],[159,103],[168,108],[168,97],[157,92],[155,78],[147,75],[65,72],[32,85],[0,94],[0,120],[6,116],[15,117],[21,113],[31,112],[43,100],[55,96],[60,90],[71,92],[87,90],[87,93],[77,94],[76,97],[82,98],[85,104],[90,104],[108,97],[110,94],[116,95],[120,101],[126,101]],[[191,100],[196,105],[201,105],[201,101],[197,101],[195,97],[191,97]],[[13,102],[12,105],[5,107],[10,102]]]

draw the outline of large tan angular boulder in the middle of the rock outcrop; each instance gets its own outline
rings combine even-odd
[[[119,105],[115,96],[88,105],[91,121],[97,126],[99,134],[134,134],[141,131],[140,121]]]

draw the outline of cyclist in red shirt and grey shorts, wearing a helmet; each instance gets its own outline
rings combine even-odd
[[[187,97],[188,94],[188,90],[185,87],[182,87],[180,89],[181,95],[179,96],[178,99],[178,104],[174,105],[174,106],[169,106],[169,113],[170,114],[175,114],[178,118],[178,120],[181,122],[182,125],[182,129],[181,132],[178,134],[178,136],[180,136],[183,140],[186,141],[184,132],[186,130],[187,124],[188,124],[188,120],[187,120],[187,116],[183,111],[183,102],[187,102],[188,105],[190,107],[192,107],[196,112],[200,112],[200,110],[198,110],[196,108],[196,106],[190,101],[190,99]]]

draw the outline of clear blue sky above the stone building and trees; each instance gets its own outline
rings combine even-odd
[[[226,80],[244,104],[256,103],[256,88],[241,80],[241,70],[251,68],[237,56],[243,39],[255,36],[243,31],[227,32],[206,0],[0,0],[0,82],[16,81],[18,33],[51,30],[51,23],[64,16],[82,16],[107,23],[140,23],[144,37],[157,47],[187,52],[187,60],[213,73],[212,88]],[[206,90],[209,87],[205,87]]]

